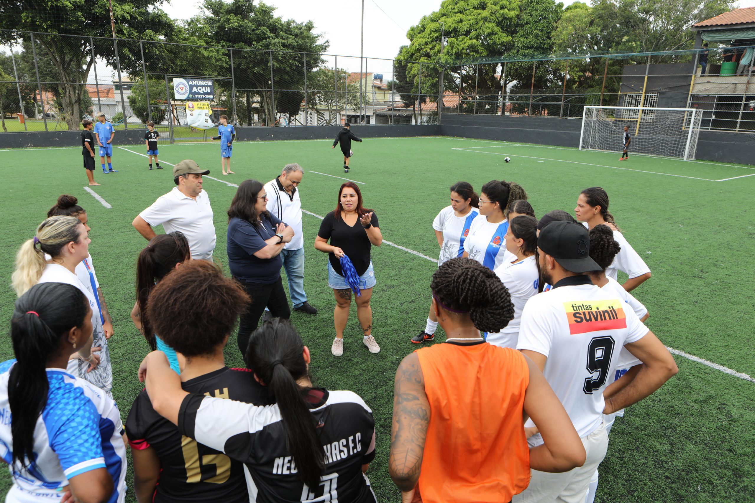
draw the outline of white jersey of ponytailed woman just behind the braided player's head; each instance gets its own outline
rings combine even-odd
[[[501,348],[516,348],[522,309],[529,298],[538,293],[538,265],[535,263],[535,256],[513,263],[504,262],[495,268],[495,274],[509,290],[511,303],[514,305],[514,319],[501,332],[488,333],[485,340]]]

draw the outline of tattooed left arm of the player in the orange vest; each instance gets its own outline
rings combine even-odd
[[[391,425],[390,476],[402,491],[411,490],[419,480],[430,403],[424,391],[424,376],[417,354],[409,354],[396,371]]]

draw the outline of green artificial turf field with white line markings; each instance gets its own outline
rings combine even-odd
[[[85,191],[79,148],[0,152],[0,201],[9,225],[0,246],[0,278],[6,285],[0,290],[0,359],[13,356],[8,326],[15,300],[9,287],[15,253],[32,238],[58,195],[75,195],[88,211],[90,251],[115,323],[109,341],[113,394],[125,420],[142,389],[137,367],[148,351],[129,317],[134,264],[146,246],[131,220],[174,187],[168,163],[191,158],[211,170],[204,188],[215,212],[215,257],[227,271],[225,212],[236,191],[228,184],[248,178],[267,182],[285,164],[298,162],[304,167],[300,194],[307,212],[305,288],[320,312],[294,312],[291,321],[312,351],[316,383],[356,391],[373,410],[377,457],[368,476],[378,501],[399,501],[387,472],[393,376],[402,357],[416,348],[409,338],[424,328],[427,318],[430,276],[439,251],[431,224],[448,205],[448,187],[459,180],[477,189],[491,179],[513,180],[526,189],[539,217],[553,209],[572,211],[582,189],[602,186],[618,225],[652,270],[652,278],[633,292],[649,308],[650,329],[670,348],[740,375],[677,355],[680,373],[615,423],[596,501],[755,500],[755,382],[747,379],[755,376],[753,167],[631,152],[628,161],[619,162],[618,152],[427,137],[356,143],[351,173],[345,174],[340,152],[330,146],[331,140],[239,142],[233,149],[236,175],[222,176],[217,143],[161,145],[160,159],[167,169],[152,171],[147,170],[144,146],[116,144],[113,167],[120,173],[95,170],[102,185],[92,188],[112,208]],[[511,162],[504,163],[504,156]],[[372,252],[377,277],[373,334],[381,345],[379,354],[362,345],[356,308],[347,326],[344,356],[330,353],[334,299],[327,286],[327,258],[314,250],[313,242],[318,216],[336,205],[341,176],[361,182],[365,206],[377,213],[387,240]],[[439,329],[438,340],[443,339]],[[242,366],[233,339],[226,355],[229,365]],[[10,483],[5,469],[0,479],[5,492]],[[132,493],[127,501],[135,501]]]

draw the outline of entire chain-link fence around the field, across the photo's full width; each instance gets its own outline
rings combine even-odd
[[[248,127],[433,124],[443,113],[580,118],[602,105],[695,108],[702,129],[753,131],[752,66],[747,46],[443,67],[0,30],[0,118],[4,132],[75,130],[104,112],[116,128],[153,121],[174,142],[205,140],[220,115]],[[209,90],[179,96],[180,79]]]

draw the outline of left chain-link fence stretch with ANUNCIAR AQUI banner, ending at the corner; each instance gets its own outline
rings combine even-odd
[[[5,132],[76,130],[103,112],[118,129],[152,121],[161,142],[206,140],[200,106],[204,127],[220,115],[250,127],[431,123],[440,73],[433,63],[0,30]],[[209,90],[179,96],[180,79]]]

